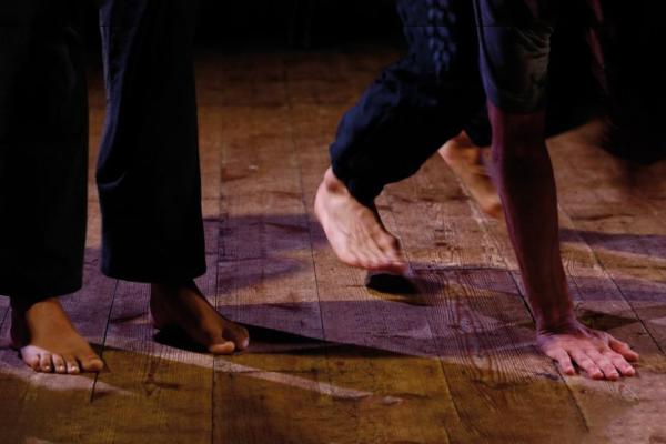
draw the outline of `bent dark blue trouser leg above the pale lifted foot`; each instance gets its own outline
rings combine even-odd
[[[402,0],[410,53],[342,119],[332,168],[360,201],[414,174],[480,110],[477,43],[468,0]]]

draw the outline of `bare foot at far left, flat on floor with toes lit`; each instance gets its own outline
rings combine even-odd
[[[11,312],[12,345],[36,372],[78,374],[99,372],[102,360],[77,332],[60,301],[51,297]]]

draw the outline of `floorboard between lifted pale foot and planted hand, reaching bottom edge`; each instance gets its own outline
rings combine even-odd
[[[585,421],[557,370],[536,351],[516,282],[444,162],[432,159],[386,194],[382,214],[395,220],[413,262],[466,433],[452,440],[579,442]]]

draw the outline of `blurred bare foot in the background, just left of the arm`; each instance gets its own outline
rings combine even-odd
[[[440,154],[461,180],[481,210],[492,218],[503,216],[500,194],[483,163],[484,149],[461,132],[440,149]]]

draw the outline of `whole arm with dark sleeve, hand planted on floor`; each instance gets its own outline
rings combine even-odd
[[[567,374],[574,373],[573,360],[595,379],[633,375],[627,360],[637,359],[636,353],[607,333],[585,327],[573,312],[542,111],[552,33],[542,13],[553,12],[555,3],[536,2],[535,13],[521,9],[521,1],[476,0],[475,6],[497,185],[536,320],[537,342]],[[507,8],[509,3],[514,9]]]

